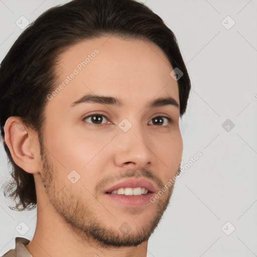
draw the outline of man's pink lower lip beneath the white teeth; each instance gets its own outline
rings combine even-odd
[[[147,193],[145,195],[118,195],[105,193],[105,195],[112,201],[124,206],[139,207],[150,203],[150,198],[154,195],[154,193]]]

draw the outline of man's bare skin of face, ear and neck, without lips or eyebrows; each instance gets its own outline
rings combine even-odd
[[[145,177],[161,190],[178,174],[183,143],[179,108],[146,106],[167,96],[179,103],[173,67],[154,43],[114,36],[80,42],[59,57],[59,83],[96,48],[99,53],[47,103],[42,157],[38,134],[19,117],[5,125],[15,162],[35,178],[37,225],[26,245],[33,256],[147,256],[148,239],[172,195],[174,184],[155,203],[140,207],[104,195],[104,189],[130,177]],[[71,107],[88,93],[117,97],[123,106]],[[91,117],[85,119],[93,112],[106,119],[100,116],[102,123],[94,125]],[[157,116],[172,121],[154,123]],[[132,124],[127,132],[118,126],[124,118]],[[67,178],[73,170],[80,175],[74,184]],[[124,222],[131,230],[122,233]]]

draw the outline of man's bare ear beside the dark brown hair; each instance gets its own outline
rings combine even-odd
[[[39,173],[41,156],[37,133],[25,126],[18,116],[9,117],[4,130],[14,162],[28,173]]]

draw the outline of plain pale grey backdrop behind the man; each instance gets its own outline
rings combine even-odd
[[[144,2],[175,33],[192,81],[181,122],[187,169],[149,240],[148,257],[257,256],[257,2]],[[21,16],[32,22],[62,3],[0,0],[0,60],[23,31],[16,25]],[[198,151],[202,156],[190,162]],[[6,181],[2,144],[0,158]],[[15,236],[31,239],[35,231],[36,210],[16,213],[10,203],[1,192],[0,255],[15,246]],[[24,235],[16,230],[22,221],[29,226]]]

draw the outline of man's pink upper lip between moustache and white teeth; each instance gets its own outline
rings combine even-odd
[[[105,193],[107,193],[107,192],[110,193],[114,190],[118,190],[119,188],[126,188],[126,187],[132,187],[132,188],[144,187],[144,188],[148,189],[148,191],[150,193],[156,192],[155,185],[151,181],[149,181],[145,178],[139,178],[139,179],[130,178],[130,179],[120,181],[117,184],[113,185],[112,187],[106,189],[104,192]]]

